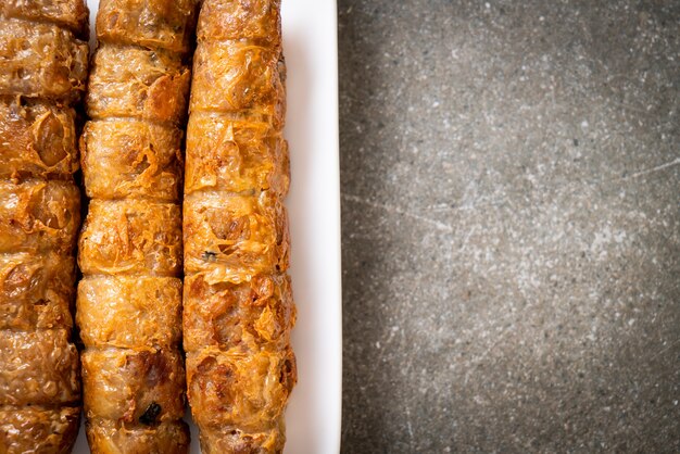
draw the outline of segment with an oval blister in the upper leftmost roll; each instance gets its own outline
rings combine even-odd
[[[0,99],[0,178],[70,178],[78,169],[74,117],[41,100]]]

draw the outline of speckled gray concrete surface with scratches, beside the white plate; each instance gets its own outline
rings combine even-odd
[[[338,11],[342,452],[680,452],[680,2]]]

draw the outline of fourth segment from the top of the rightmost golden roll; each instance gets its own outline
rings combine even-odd
[[[270,193],[197,192],[185,199],[185,272],[242,282],[288,269],[288,217]]]

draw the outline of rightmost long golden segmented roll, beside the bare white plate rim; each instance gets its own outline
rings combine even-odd
[[[280,453],[297,380],[279,0],[204,0],[184,202],[187,395],[204,453]]]

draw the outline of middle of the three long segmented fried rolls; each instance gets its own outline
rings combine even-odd
[[[101,0],[80,137],[78,243],[93,453],[186,453],[181,144],[197,0]]]

